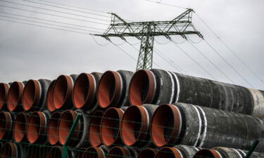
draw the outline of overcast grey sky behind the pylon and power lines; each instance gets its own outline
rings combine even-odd
[[[5,1],[14,2],[17,4],[6,3]],[[44,1],[30,0],[37,3],[49,4]],[[0,82],[10,81],[24,81],[28,79],[56,79],[59,74],[80,74],[81,72],[105,72],[106,70],[131,70],[134,71],[137,62],[130,56],[126,55],[120,49],[113,45],[99,46],[92,39],[89,33],[95,31],[103,32],[101,29],[106,29],[110,24],[111,18],[107,12],[114,12],[126,20],[144,21],[144,20],[172,20],[180,13],[184,12],[182,8],[175,8],[172,6],[165,6],[162,4],[155,4],[145,0],[56,0],[53,2],[61,3],[70,6],[78,6],[81,8],[88,8],[96,11],[81,10],[80,8],[70,8],[69,6],[56,5],[59,7],[66,7],[78,11],[70,11],[63,8],[56,8],[53,6],[46,6],[42,4],[35,4],[30,1],[23,0],[0,0]],[[48,1],[48,0],[47,0]],[[51,0],[50,0],[51,1]],[[222,41],[230,46],[232,51],[243,60],[253,72],[255,72],[260,79],[264,80],[263,72],[263,36],[264,36],[264,1],[263,0],[163,0],[162,3],[172,4],[175,6],[182,6],[194,8],[197,15],[201,17],[211,29],[218,34]],[[22,6],[24,4],[27,6]],[[55,4],[49,4],[55,5]],[[7,8],[9,6],[13,8]],[[38,7],[33,8],[30,6]],[[21,11],[25,9],[29,11]],[[44,10],[43,8],[46,8]],[[49,10],[47,10],[49,9]],[[54,10],[54,11],[51,11]],[[61,13],[55,12],[59,11]],[[82,11],[82,12],[80,12]],[[62,13],[64,12],[64,13]],[[87,13],[84,13],[87,12]],[[13,15],[6,14],[12,13]],[[46,14],[41,14],[46,13]],[[68,14],[67,14],[68,13]],[[75,15],[70,15],[70,14]],[[93,14],[91,14],[93,13]],[[52,14],[52,15],[47,15]],[[94,15],[99,14],[99,15]],[[44,20],[37,20],[32,18],[20,17],[18,15],[39,18],[44,20],[53,20],[57,22],[64,22],[67,24],[58,24],[56,22],[47,22]],[[69,18],[56,17],[65,16],[70,18],[77,18],[80,20],[70,20]],[[103,15],[103,16],[101,16]],[[3,16],[8,16],[3,17]],[[13,18],[12,18],[13,17]],[[90,17],[90,18],[88,18]],[[14,19],[16,18],[16,19]],[[38,21],[49,23],[53,25],[40,24],[36,22],[26,22],[25,20],[18,20],[23,18],[31,21]],[[92,19],[95,18],[95,19]],[[103,19],[103,20],[99,20]],[[32,25],[19,24],[15,22],[8,22],[3,20],[12,20],[16,22],[26,22],[34,25],[42,25],[46,27],[56,27],[59,29],[69,29],[65,27],[75,27],[78,32],[86,32],[87,34],[79,34],[75,32],[62,31],[57,29],[43,28]],[[81,20],[86,20],[81,21]],[[87,22],[87,21],[92,22]],[[98,24],[94,22],[100,22]],[[199,20],[194,14],[193,23],[196,28],[203,34],[206,41],[208,41],[213,48],[215,48],[227,62],[234,67],[234,69],[241,74],[246,81],[248,81],[254,88],[264,89],[264,84],[253,73],[245,67],[236,56],[234,56],[220,40],[210,32],[210,29]],[[58,27],[54,25],[61,25]],[[85,27],[77,27],[73,25],[82,25]],[[94,27],[97,29],[89,29],[87,27]],[[80,29],[89,29],[93,32],[87,32]],[[172,37],[177,42],[182,42],[182,37]],[[108,41],[100,37],[95,37],[99,44],[107,44]],[[139,41],[133,38],[127,38],[137,49],[139,49]],[[189,36],[189,41],[200,41],[199,37]],[[115,44],[122,44],[120,39],[113,39]],[[158,44],[158,43],[162,44]],[[242,79],[237,72],[232,70],[222,58],[213,51],[212,48],[201,41],[199,44],[194,44],[199,50],[206,55],[217,67],[220,68],[225,75],[227,75],[235,84],[242,86],[249,86],[244,79]],[[180,48],[188,53],[191,58],[199,62],[201,67],[210,72],[218,81],[225,81],[232,83],[224,74],[216,69],[206,58],[204,58],[199,51],[197,51],[188,41],[179,44]],[[129,44],[122,44],[120,48],[125,50],[133,58],[137,58],[138,51],[136,51]],[[170,60],[170,63],[163,60],[160,56],[154,53],[153,65],[154,68],[161,67],[164,70],[172,72],[180,72],[173,67],[172,63],[179,65],[186,74],[197,77],[205,77],[213,79],[201,67],[196,65],[187,55],[168,42],[164,37],[157,37],[154,48],[158,49]],[[158,67],[158,66],[159,67]]]

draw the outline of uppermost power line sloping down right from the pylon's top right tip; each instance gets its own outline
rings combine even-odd
[[[206,24],[206,22],[202,19],[202,18],[200,18],[200,16],[197,14],[197,13],[195,13],[196,14],[196,16],[201,20],[201,22],[203,22],[203,24],[204,25],[206,25],[206,27],[208,27],[208,29],[210,29],[210,31],[215,35],[215,37],[217,37],[219,40],[220,40],[220,42],[234,55],[234,56],[236,56],[236,58],[240,61],[240,62],[242,62],[242,64],[252,73],[252,74],[254,74],[255,75],[255,77],[256,78],[258,78],[263,84],[264,84],[264,81],[263,81],[263,79],[261,79],[255,72],[253,72],[253,70],[251,70],[251,68],[248,66],[248,65],[246,65],[246,62],[244,62],[241,58],[239,58],[239,56],[237,55],[237,53],[234,53],[234,51],[232,51],[232,49],[229,47],[229,46],[227,46],[227,44],[225,44],[225,42],[224,41],[222,41],[222,39],[220,39],[220,37],[218,36],[218,34],[216,34],[214,31],[213,31],[213,29],[211,29],[210,27],[209,27],[209,25],[207,25]]]

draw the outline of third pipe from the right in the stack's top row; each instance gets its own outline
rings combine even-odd
[[[77,109],[82,109],[88,114],[99,110],[96,100],[96,91],[101,78],[101,73],[80,74],[73,87],[73,105]]]

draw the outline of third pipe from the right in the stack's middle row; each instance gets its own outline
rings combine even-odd
[[[125,107],[111,107],[103,114],[101,120],[101,141],[103,145],[122,145],[120,137],[120,123],[125,112]]]

